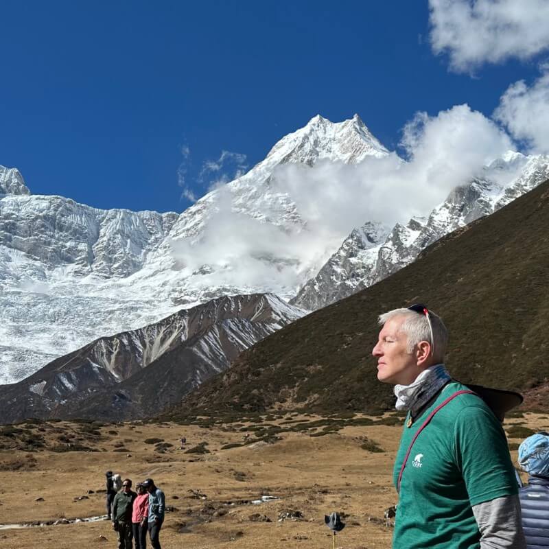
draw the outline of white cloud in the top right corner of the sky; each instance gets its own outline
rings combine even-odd
[[[527,60],[549,48],[547,0],[429,0],[430,40],[450,67]]]

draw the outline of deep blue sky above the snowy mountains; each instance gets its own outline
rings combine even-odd
[[[183,211],[181,163],[201,196],[205,162],[253,165],[317,113],[359,113],[390,149],[419,110],[490,117],[546,51],[437,55],[427,1],[23,0],[1,18],[0,164],[35,194],[134,210]]]

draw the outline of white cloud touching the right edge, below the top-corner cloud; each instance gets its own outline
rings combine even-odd
[[[511,135],[526,143],[529,152],[549,152],[549,67],[529,86],[524,80],[511,84],[502,95],[494,117]]]

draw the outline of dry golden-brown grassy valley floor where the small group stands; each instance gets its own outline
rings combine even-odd
[[[331,548],[324,515],[332,511],[344,513],[347,523],[336,537],[337,547],[390,548],[393,528],[384,511],[397,500],[391,477],[400,418],[353,425],[285,414],[259,421],[268,425],[202,420],[195,425],[36,422],[0,427],[0,524],[103,515],[100,490],[104,472],[112,469],[134,484],[152,477],[165,491],[170,506],[161,535],[165,549]],[[307,424],[311,427],[303,428]],[[528,428],[548,429],[549,418],[526,413],[505,427],[513,448]],[[270,434],[258,436],[265,428]],[[187,438],[183,450],[181,436]],[[222,449],[226,445],[238,446]],[[75,452],[74,447],[82,449]],[[185,453],[188,449],[209,453]],[[516,461],[516,450],[511,454]],[[251,503],[261,495],[279,499]],[[84,546],[115,548],[110,522],[0,526],[2,549]]]

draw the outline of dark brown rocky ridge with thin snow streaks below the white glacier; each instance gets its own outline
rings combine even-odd
[[[226,296],[99,338],[1,387],[0,422],[158,413],[226,369],[244,349],[304,314],[272,294]]]

